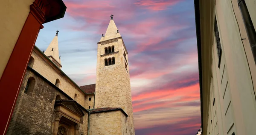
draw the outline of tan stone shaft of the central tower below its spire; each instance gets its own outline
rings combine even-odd
[[[115,52],[118,53],[104,55],[104,48],[108,46],[115,46]],[[131,135],[135,135],[129,67],[125,69],[125,63],[128,66],[128,54],[125,60],[124,51],[121,38],[98,44],[95,107],[121,107],[129,116],[127,128],[131,129]],[[104,59],[113,56],[115,65],[105,66]]]

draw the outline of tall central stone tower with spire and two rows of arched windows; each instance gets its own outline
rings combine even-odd
[[[95,108],[121,107],[128,114],[129,135],[135,135],[128,52],[111,15],[98,42]]]

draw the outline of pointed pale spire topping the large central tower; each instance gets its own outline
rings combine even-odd
[[[108,39],[114,39],[116,37],[121,37],[119,30],[117,29],[116,24],[113,20],[113,14],[111,14],[110,17],[111,17],[111,20],[109,22],[105,37],[104,37],[104,39],[101,38],[100,42],[108,40]]]

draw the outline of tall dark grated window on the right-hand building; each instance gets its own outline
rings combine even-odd
[[[216,16],[215,16],[215,21],[214,21],[214,33],[215,33],[218,60],[219,60],[218,61],[218,68],[220,68],[222,49],[221,49],[221,41],[220,41],[220,36],[219,36],[219,32],[218,32],[218,25],[217,25]]]

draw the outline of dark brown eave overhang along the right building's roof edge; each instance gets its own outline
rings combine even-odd
[[[198,68],[201,100],[201,123],[202,131],[207,125],[209,104],[209,84],[212,68],[212,44],[214,26],[215,0],[194,0],[195,23],[198,43]],[[205,135],[202,132],[202,135]]]

